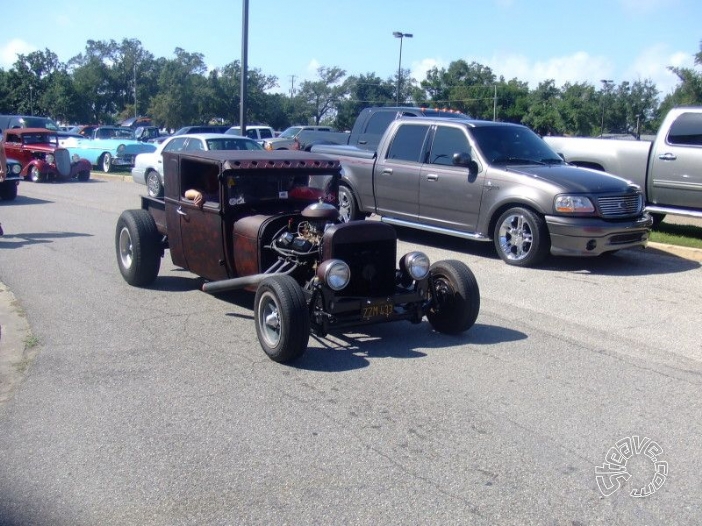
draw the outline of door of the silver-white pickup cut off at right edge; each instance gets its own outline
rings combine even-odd
[[[702,113],[683,113],[651,153],[648,200],[665,206],[702,208]]]

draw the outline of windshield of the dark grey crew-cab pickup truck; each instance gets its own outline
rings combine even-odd
[[[526,126],[477,126],[473,137],[490,164],[563,164],[565,161]]]

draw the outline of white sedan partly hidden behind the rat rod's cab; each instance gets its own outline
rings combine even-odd
[[[248,137],[223,133],[172,135],[151,153],[137,155],[132,168],[135,183],[145,184],[151,197],[163,196],[163,153],[208,150],[263,150],[258,142]]]

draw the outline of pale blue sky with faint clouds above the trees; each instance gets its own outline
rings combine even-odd
[[[67,62],[88,40],[136,38],[155,57],[176,47],[209,67],[241,59],[243,0],[3,1],[0,68],[17,53],[49,49]],[[702,41],[700,0],[249,0],[249,68],[275,75],[278,91],[315,79],[319,66],[349,75],[397,73],[418,80],[458,59],[534,88],[554,79],[651,79],[677,85],[668,66],[694,67]],[[699,67],[698,67],[699,68]]]

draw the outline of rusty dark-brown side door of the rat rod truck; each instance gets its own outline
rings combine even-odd
[[[177,209],[187,269],[209,280],[226,279],[229,276],[224,256],[223,218],[220,213],[221,198],[217,173],[212,171],[190,175],[192,177],[182,177],[185,186],[182,188]],[[184,197],[188,188],[195,188],[205,195],[205,204],[201,208]]]

